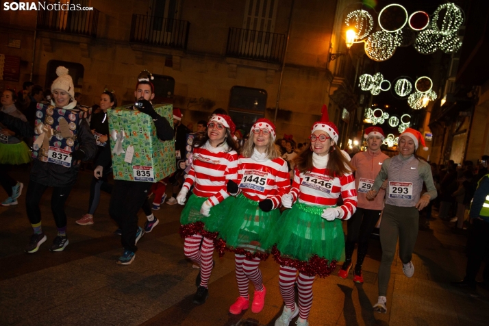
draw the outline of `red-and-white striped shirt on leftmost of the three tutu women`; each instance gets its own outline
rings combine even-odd
[[[193,185],[194,194],[208,197],[213,206],[229,197],[227,181],[236,182],[238,179],[238,153],[227,149],[227,145],[211,147],[209,142],[196,147],[183,185],[188,190]]]

